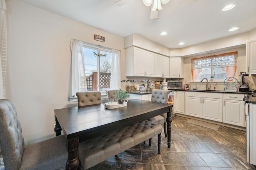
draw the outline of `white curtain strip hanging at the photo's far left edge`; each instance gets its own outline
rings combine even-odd
[[[6,66],[7,66],[7,27],[6,3],[0,0],[0,99],[6,96]]]

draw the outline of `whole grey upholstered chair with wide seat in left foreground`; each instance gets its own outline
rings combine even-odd
[[[0,147],[6,170],[56,170],[68,159],[64,135],[24,147],[16,108],[6,99],[0,100]]]

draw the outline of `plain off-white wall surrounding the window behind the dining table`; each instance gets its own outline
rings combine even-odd
[[[16,106],[26,145],[54,135],[54,109],[69,103],[72,38],[121,50],[125,79],[124,38],[8,0],[8,67],[6,98]],[[86,16],[84,16],[86,17]],[[94,41],[94,34],[105,43]]]

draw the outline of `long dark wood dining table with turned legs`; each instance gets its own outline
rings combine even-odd
[[[67,139],[68,160],[66,170],[80,168],[78,146],[86,141],[121,129],[134,123],[150,119],[156,115],[167,113],[167,143],[171,146],[171,112],[172,105],[148,102],[144,100],[129,100],[127,106],[116,109],[106,109],[103,104],[55,109],[56,135],[63,131]]]

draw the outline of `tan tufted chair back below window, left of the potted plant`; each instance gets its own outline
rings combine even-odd
[[[77,92],[78,106],[101,104],[100,91]]]

